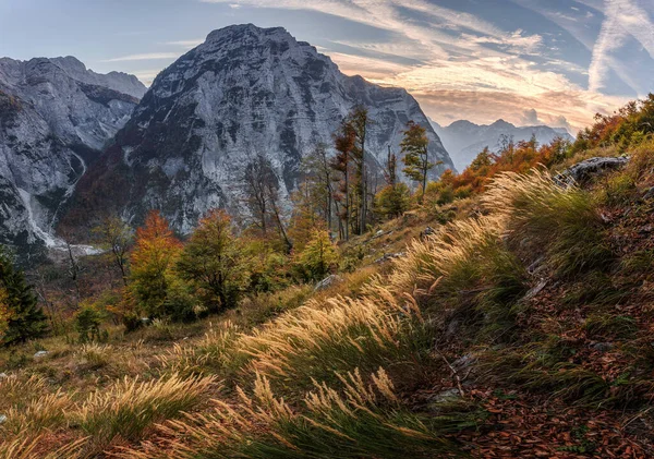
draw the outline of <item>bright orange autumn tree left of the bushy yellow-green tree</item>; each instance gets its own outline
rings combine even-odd
[[[157,210],[148,214],[145,226],[136,230],[135,249],[130,258],[132,271],[129,290],[147,314],[172,315],[167,311],[168,288],[173,280],[172,267],[182,250],[168,221]]]

